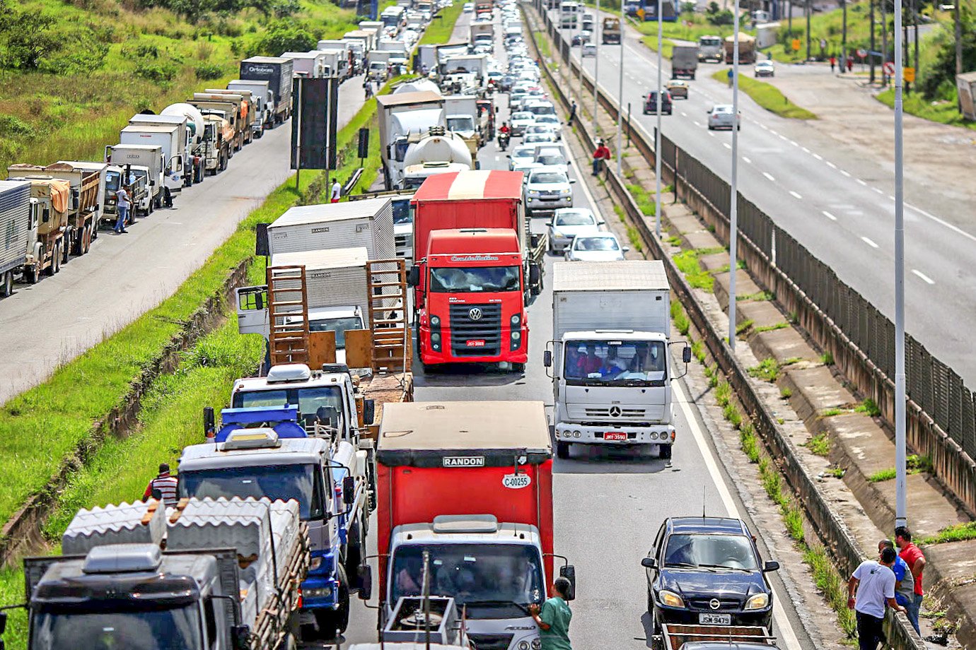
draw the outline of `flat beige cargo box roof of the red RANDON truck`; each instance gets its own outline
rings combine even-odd
[[[552,457],[542,401],[384,404],[377,459],[386,466],[441,467],[445,456],[458,452],[481,456],[486,466],[505,466],[513,451],[530,464]]]

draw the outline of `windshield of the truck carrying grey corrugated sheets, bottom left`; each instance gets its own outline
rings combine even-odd
[[[41,610],[30,617],[35,650],[193,650],[202,648],[197,610],[183,607],[136,611]]]

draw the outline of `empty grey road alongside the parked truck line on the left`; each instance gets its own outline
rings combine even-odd
[[[362,105],[361,77],[340,87],[340,99],[345,125]],[[57,276],[16,285],[0,301],[0,403],[172,295],[289,176],[290,143],[289,122],[234,154],[224,172],[184,189],[172,209],[138,219],[128,235],[102,230]]]

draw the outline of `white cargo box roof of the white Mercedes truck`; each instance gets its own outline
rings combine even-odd
[[[617,262],[556,262],[553,291],[668,290],[664,262],[626,259]]]

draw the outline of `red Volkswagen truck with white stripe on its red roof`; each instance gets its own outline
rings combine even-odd
[[[525,306],[543,287],[545,236],[522,208],[522,173],[442,173],[424,181],[414,207],[410,284],[421,362],[528,361]]]

